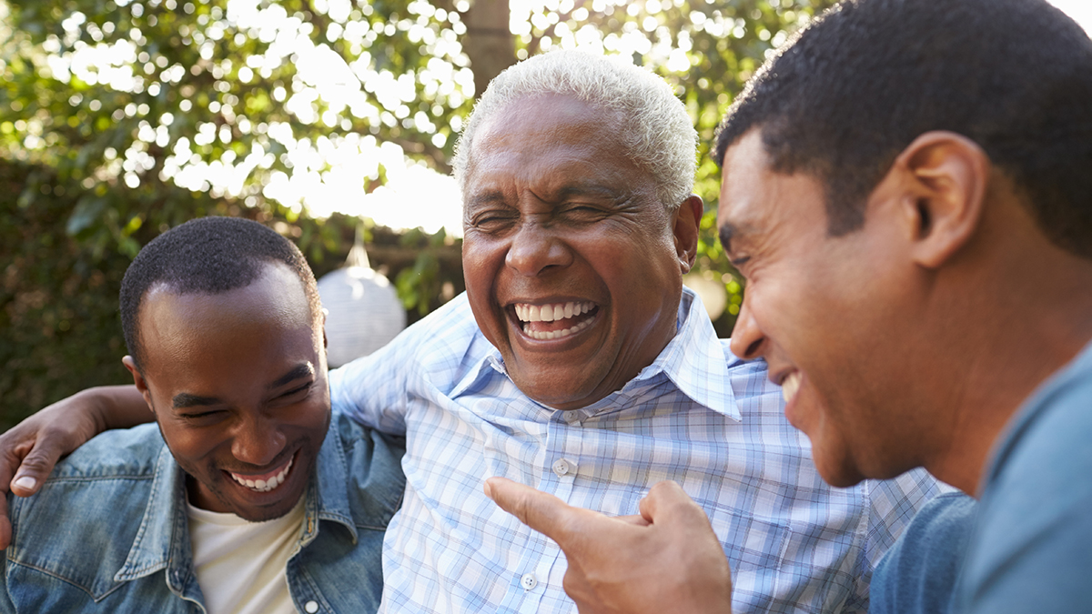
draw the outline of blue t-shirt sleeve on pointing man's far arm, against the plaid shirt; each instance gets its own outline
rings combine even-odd
[[[975,501],[945,493],[914,517],[873,574],[869,614],[948,614],[974,530]]]

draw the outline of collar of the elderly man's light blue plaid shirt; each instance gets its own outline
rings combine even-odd
[[[468,315],[467,317],[473,317]],[[480,332],[478,332],[480,335]],[[477,340],[475,340],[477,341]],[[740,421],[739,408],[736,406],[735,394],[732,391],[728,362],[735,357],[725,355],[721,340],[716,338],[713,323],[705,312],[701,299],[688,287],[682,287],[682,299],[679,302],[675,336],[660,352],[651,365],[641,369],[621,390],[593,403],[584,410],[578,410],[585,415],[614,406],[619,397],[633,394],[638,389],[644,389],[650,381],[667,377],[678,389],[696,403]],[[456,397],[475,387],[475,383],[490,373],[499,373],[508,377],[505,361],[492,345],[485,352],[477,365],[451,391]]]

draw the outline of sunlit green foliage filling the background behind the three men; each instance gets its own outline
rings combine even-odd
[[[767,54],[831,3],[543,0],[511,15],[518,57],[598,45],[676,87],[701,137],[697,268],[729,294],[715,322],[722,335],[743,286],[715,239],[719,170],[709,144]],[[393,143],[447,173],[483,76],[473,71],[508,63],[467,55],[486,48],[466,45],[470,37],[496,35],[467,29],[475,9],[505,3],[0,0],[0,395],[9,420],[87,385],[126,380],[117,285],[163,229],[200,215],[259,220],[295,240],[321,275],[343,262],[357,221],[317,220],[305,206],[313,193],[277,196],[272,186],[324,181],[335,169],[319,154],[346,143],[361,152]],[[308,62],[331,71],[316,76]],[[388,163],[361,163],[363,190],[385,181]],[[411,319],[463,290],[458,239],[368,233],[372,265],[395,283]]]

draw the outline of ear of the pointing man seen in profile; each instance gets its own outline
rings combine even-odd
[[[892,168],[909,179],[903,198],[913,258],[922,267],[938,268],[978,228],[989,156],[962,134],[930,131],[903,150]]]

